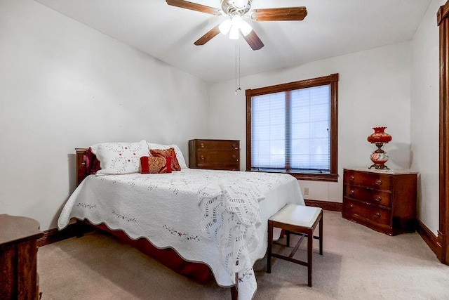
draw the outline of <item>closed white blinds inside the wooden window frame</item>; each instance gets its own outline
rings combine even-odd
[[[253,169],[330,171],[330,85],[251,98]]]

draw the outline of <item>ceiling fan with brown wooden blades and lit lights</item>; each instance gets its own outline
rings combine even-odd
[[[199,11],[210,15],[227,15],[229,18],[220,25],[213,27],[194,42],[196,46],[204,45],[220,32],[229,33],[229,39],[239,39],[239,35],[245,39],[253,50],[259,50],[264,46],[260,38],[254,32],[253,27],[244,18],[253,21],[300,21],[307,15],[307,9],[300,7],[285,8],[260,8],[251,10],[251,0],[220,0],[222,8],[213,8],[202,4],[196,4],[185,0],[166,0],[170,6],[186,8],[191,11]]]

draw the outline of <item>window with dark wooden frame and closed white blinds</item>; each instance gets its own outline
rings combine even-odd
[[[337,181],[338,74],[246,90],[246,169]]]

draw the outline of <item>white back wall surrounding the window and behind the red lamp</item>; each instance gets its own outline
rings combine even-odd
[[[210,135],[241,140],[241,168],[246,169],[245,89],[339,73],[339,181],[300,181],[300,185],[309,188],[309,195],[304,195],[309,200],[342,202],[342,168],[372,164],[369,157],[375,146],[366,138],[373,127],[387,126],[385,131],[393,136],[384,146],[390,157],[387,166],[410,167],[411,58],[407,42],[244,77],[238,95],[234,80],[215,84],[210,89]]]

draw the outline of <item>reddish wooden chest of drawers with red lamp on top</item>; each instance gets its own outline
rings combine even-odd
[[[344,219],[388,235],[416,228],[417,173],[344,169]]]

